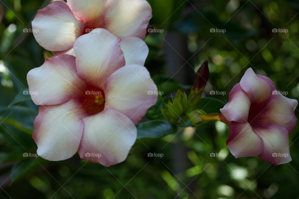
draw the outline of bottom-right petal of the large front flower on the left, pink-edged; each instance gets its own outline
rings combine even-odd
[[[81,159],[105,166],[126,159],[137,137],[137,129],[128,117],[105,109],[83,120],[85,127],[78,150]]]

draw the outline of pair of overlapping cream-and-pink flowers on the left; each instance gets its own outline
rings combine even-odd
[[[40,105],[33,138],[47,160],[105,166],[126,159],[139,122],[158,96],[144,67],[151,7],[146,0],[55,1],[39,10],[36,41],[55,56],[27,74]],[[86,155],[87,154],[87,155]],[[101,155],[88,155],[101,154]]]

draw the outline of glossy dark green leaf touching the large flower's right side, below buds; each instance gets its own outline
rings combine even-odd
[[[174,131],[175,128],[165,120],[151,120],[137,125],[137,138],[159,138]]]

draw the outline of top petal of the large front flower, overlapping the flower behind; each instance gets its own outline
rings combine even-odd
[[[103,82],[125,65],[120,39],[101,28],[79,37],[74,44],[77,72],[92,86]]]

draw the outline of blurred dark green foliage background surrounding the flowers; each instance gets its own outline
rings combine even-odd
[[[160,103],[167,102],[174,88],[192,85],[204,60],[209,61],[210,80],[199,106],[208,113],[223,106],[208,97],[228,101],[230,89],[249,67],[270,77],[288,98],[299,99],[298,1],[148,1],[150,25],[163,30],[145,38],[150,48],[145,66],[164,91]],[[138,140],[125,162],[108,168],[86,163],[78,154],[59,162],[24,157],[37,148],[31,138],[37,106],[22,95],[28,87],[26,74],[50,53],[23,30],[31,28],[37,10],[48,3],[0,0],[1,199],[299,197],[298,125],[289,139],[292,162],[276,167],[257,157],[235,159],[225,144],[228,128],[220,122]],[[223,95],[210,95],[212,90]],[[8,108],[18,93],[17,104]]]

